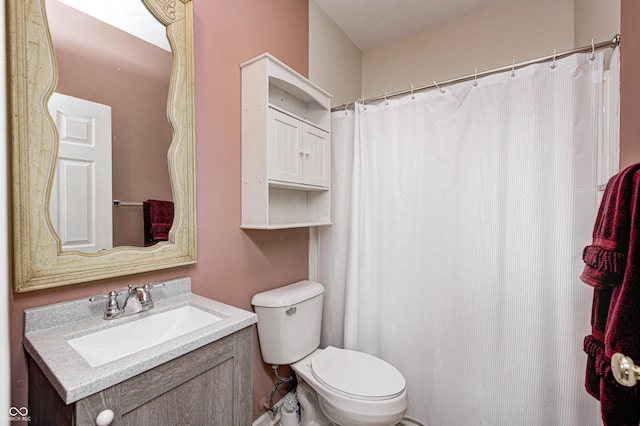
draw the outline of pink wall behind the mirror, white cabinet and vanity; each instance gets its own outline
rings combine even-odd
[[[194,1],[198,263],[155,273],[78,284],[10,300],[11,404],[27,404],[22,348],[25,308],[88,297],[127,284],[190,276],[193,291],[251,309],[253,294],[308,276],[308,230],[240,229],[240,64],[270,52],[308,74],[308,3],[300,0]],[[254,333],[254,417],[273,372]]]

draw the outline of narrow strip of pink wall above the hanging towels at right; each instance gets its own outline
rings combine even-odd
[[[640,163],[640,2],[620,3],[620,169]]]

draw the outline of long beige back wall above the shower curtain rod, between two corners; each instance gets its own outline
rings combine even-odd
[[[365,97],[466,76],[574,46],[573,0],[507,0],[363,55]]]

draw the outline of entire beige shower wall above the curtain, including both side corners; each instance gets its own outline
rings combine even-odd
[[[360,53],[309,0],[309,75],[334,95],[361,95],[431,84],[587,46],[620,32],[620,0],[505,0],[435,28]],[[360,62],[360,63],[359,63]],[[358,73],[360,73],[358,75]]]

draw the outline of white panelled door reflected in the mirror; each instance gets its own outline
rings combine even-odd
[[[62,250],[110,249],[111,107],[54,93],[49,113],[60,138],[49,213]]]

